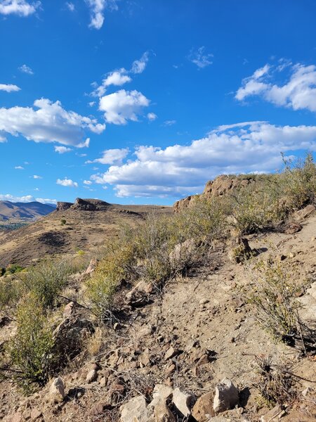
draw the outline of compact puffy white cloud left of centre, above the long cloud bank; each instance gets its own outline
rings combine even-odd
[[[108,123],[126,124],[128,120],[138,121],[138,114],[149,106],[150,100],[141,92],[120,89],[100,98],[99,110],[105,112]]]

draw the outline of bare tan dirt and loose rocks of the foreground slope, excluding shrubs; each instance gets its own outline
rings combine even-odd
[[[294,234],[249,236],[249,245],[258,252],[250,264],[232,262],[227,250],[218,248],[209,251],[202,266],[162,291],[145,282],[122,286],[120,312],[105,331],[97,329],[92,337],[88,333],[88,352],[74,357],[60,378],[26,398],[14,385],[1,383],[1,418],[316,421],[315,356],[303,358],[295,347],[275,342],[258,326],[254,308],[244,299],[252,268],[272,255],[301,286],[301,318],[315,324],[316,216],[303,217]],[[81,309],[67,305],[58,329],[85,318]],[[5,335],[9,327],[1,330]],[[287,365],[294,383],[296,395],[284,407],[269,409],[255,387],[257,359],[268,355],[275,364]]]

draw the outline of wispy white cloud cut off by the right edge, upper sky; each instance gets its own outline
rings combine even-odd
[[[287,82],[283,85],[270,82],[273,76],[288,68],[290,77]],[[316,66],[291,65],[286,60],[277,67],[267,64],[245,78],[235,94],[239,101],[249,96],[261,96],[269,103],[293,110],[316,111]]]

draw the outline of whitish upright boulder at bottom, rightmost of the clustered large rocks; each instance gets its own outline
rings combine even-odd
[[[228,378],[216,384],[213,409],[216,414],[233,409],[239,401],[238,390]]]

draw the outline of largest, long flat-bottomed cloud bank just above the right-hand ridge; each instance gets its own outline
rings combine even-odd
[[[282,167],[280,152],[316,151],[316,126],[268,122],[230,124],[190,145],[138,146],[136,159],[112,165],[91,180],[110,184],[117,196],[182,196],[202,191],[218,174],[270,172]]]

